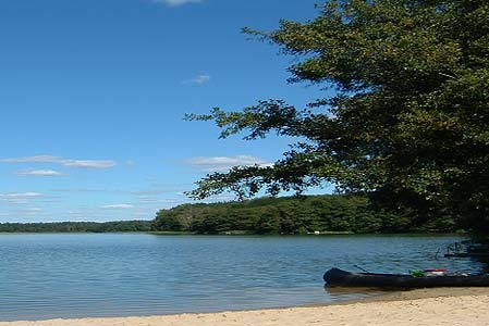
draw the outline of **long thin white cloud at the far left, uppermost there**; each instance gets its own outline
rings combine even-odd
[[[26,158],[1,159],[5,163],[54,163],[68,167],[109,168],[115,165],[111,160],[73,160],[52,155],[35,155]]]

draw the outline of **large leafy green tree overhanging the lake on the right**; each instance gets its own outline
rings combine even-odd
[[[215,121],[221,138],[297,139],[273,166],[209,174],[190,196],[301,192],[333,183],[383,206],[427,217],[449,212],[487,231],[488,1],[331,0],[318,11],[306,23],[245,33],[297,59],[291,83],[334,87],[335,96],[304,108],[267,100],[188,115]]]

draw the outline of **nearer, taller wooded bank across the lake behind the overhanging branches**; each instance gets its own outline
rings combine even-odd
[[[450,233],[453,216],[421,218],[371,205],[366,197],[326,195],[259,198],[242,202],[182,204],[160,210],[152,230],[196,234],[294,235],[325,233]]]

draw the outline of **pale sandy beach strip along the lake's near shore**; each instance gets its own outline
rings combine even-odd
[[[489,288],[392,292],[360,301],[209,314],[0,322],[0,326],[489,325]]]

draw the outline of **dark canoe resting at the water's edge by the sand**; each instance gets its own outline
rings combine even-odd
[[[489,287],[489,275],[420,276],[350,273],[331,268],[322,277],[327,286],[371,288]]]

